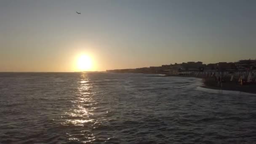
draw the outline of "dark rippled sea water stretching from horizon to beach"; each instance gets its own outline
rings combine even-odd
[[[0,144],[256,143],[256,95],[149,76],[0,73]]]

